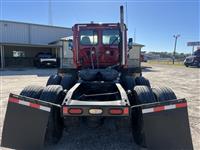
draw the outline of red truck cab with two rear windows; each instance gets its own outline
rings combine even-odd
[[[119,23],[75,24],[73,34],[77,68],[95,69],[121,64],[123,42]]]

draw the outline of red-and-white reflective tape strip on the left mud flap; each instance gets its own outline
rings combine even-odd
[[[31,102],[26,102],[26,101],[19,100],[19,99],[14,98],[14,97],[10,97],[8,101],[11,102],[11,103],[17,103],[17,104],[20,104],[20,105],[24,105],[24,106],[28,106],[28,107],[36,108],[36,109],[41,109],[41,110],[48,111],[48,112],[51,111],[50,107],[42,106],[42,105],[31,103]]]

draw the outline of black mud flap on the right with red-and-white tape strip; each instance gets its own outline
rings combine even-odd
[[[142,106],[149,150],[193,150],[185,99]]]

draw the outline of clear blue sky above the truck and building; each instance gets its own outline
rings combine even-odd
[[[199,0],[52,1],[53,25],[119,22],[119,6],[127,4],[128,36],[146,51],[173,51],[174,34],[180,34],[177,52],[190,53],[188,41],[199,41]],[[0,0],[2,20],[48,24],[48,0]],[[125,11],[126,12],[126,11]]]

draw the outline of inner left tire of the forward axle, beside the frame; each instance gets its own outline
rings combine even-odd
[[[71,75],[65,75],[61,82],[60,85],[63,87],[63,89],[69,90],[75,82],[75,78],[73,78]]]

